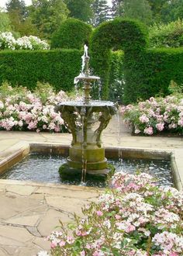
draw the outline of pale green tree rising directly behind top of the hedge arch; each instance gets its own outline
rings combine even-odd
[[[125,18],[140,19],[147,25],[152,22],[152,11],[147,0],[124,0],[123,12]]]

